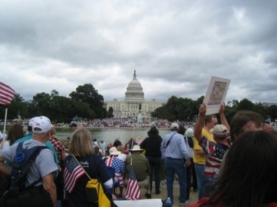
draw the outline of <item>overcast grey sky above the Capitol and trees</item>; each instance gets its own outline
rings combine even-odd
[[[277,103],[277,1],[0,1],[0,81],[24,100],[93,84],[123,100],[197,100],[211,76],[228,100]]]

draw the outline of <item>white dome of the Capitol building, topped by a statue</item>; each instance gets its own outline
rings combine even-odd
[[[134,78],[129,82],[127,91],[125,92],[125,100],[144,100],[143,87],[141,82],[136,80],[136,71],[134,71]]]

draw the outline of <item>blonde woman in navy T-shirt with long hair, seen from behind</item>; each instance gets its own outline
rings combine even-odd
[[[75,170],[80,168],[80,165],[82,169]],[[69,156],[66,156],[64,160],[64,187],[71,207],[91,206],[87,201],[85,191],[89,177],[82,173],[82,170],[85,170],[91,179],[97,177],[101,179],[106,188],[112,187],[113,180],[109,170],[101,157],[94,154],[91,133],[86,128],[79,128],[73,133],[69,145]]]

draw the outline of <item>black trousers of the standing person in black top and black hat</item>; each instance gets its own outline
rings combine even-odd
[[[145,156],[148,159],[150,165],[150,190],[152,191],[153,183],[153,170],[155,175],[155,190],[160,191],[160,170],[161,170],[161,157]]]

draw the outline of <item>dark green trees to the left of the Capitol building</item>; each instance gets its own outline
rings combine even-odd
[[[74,116],[94,119],[105,118],[107,111],[103,108],[104,98],[92,84],[80,85],[69,97],[59,96],[55,90],[51,93],[36,93],[33,100],[25,101],[19,93],[10,105],[0,105],[0,116],[5,117],[8,108],[8,120],[15,118],[32,118],[47,116],[54,123],[70,123]]]

